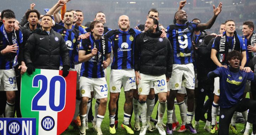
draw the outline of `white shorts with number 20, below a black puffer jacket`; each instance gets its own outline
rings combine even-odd
[[[146,75],[140,74],[138,93],[139,95],[149,95],[150,83],[155,85],[155,94],[160,92],[167,92],[167,82],[165,75]]]

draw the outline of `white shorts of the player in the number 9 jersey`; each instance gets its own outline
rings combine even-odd
[[[184,87],[194,90],[195,75],[194,75],[194,65],[192,63],[182,64],[182,65],[173,64],[172,76],[169,81],[170,89],[180,90],[182,83]]]

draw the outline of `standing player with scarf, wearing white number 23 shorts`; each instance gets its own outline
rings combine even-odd
[[[93,21],[90,25],[91,35],[89,39],[82,39],[79,47],[79,62],[82,63],[80,73],[80,96],[81,103],[80,135],[85,135],[85,119],[87,102],[91,97],[91,86],[94,90],[94,98],[100,99],[97,122],[95,130],[97,135],[102,135],[101,123],[106,113],[108,87],[104,76],[104,69],[110,64],[111,41],[102,36],[103,24],[100,21]],[[105,59],[105,58],[106,59]]]

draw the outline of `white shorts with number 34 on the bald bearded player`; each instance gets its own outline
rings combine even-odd
[[[121,92],[123,86],[124,91],[129,91],[132,87],[136,87],[134,69],[111,69],[110,71],[110,92]],[[135,88],[136,89],[136,88]]]

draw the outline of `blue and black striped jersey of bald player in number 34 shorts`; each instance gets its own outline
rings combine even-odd
[[[134,44],[140,33],[141,31],[130,28],[127,32],[116,29],[105,34],[112,41],[111,69],[134,69]]]

